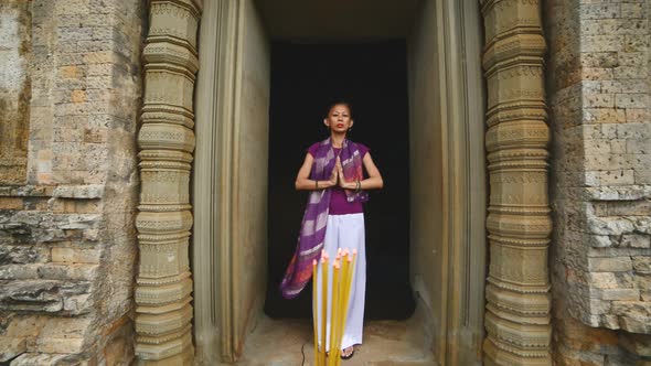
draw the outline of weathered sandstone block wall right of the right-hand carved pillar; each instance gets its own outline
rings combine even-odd
[[[651,359],[651,2],[545,2],[558,365]]]

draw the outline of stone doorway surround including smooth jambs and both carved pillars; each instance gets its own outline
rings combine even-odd
[[[201,14],[194,116],[198,44],[193,29],[201,2],[152,2],[151,46],[145,50],[145,125],[139,136],[142,213],[137,226],[142,235],[136,301],[140,306],[137,331],[146,335],[138,341],[141,358],[169,360],[192,354],[186,314],[190,272],[174,267],[169,270],[178,274],[159,279],[159,269],[169,267],[164,259],[177,254],[166,257],[168,247],[178,250],[179,262],[185,256],[192,216],[184,170],[192,158],[188,157],[194,142],[192,118],[196,150],[191,332],[200,362],[234,362],[262,314],[265,292],[268,172],[262,162],[269,136],[270,39],[302,34],[313,40],[321,34],[350,42],[403,32],[412,137],[409,280],[417,313],[423,314],[418,325],[430,332],[430,349],[441,365],[479,364],[482,348],[489,364],[548,364],[548,133],[538,4],[522,0],[401,3],[383,9],[369,0],[287,0],[273,6],[260,1],[259,8],[252,0],[206,2]],[[487,22],[488,131],[480,7]],[[318,21],[331,13],[340,14],[339,23],[346,25]],[[169,29],[170,23],[175,26]],[[488,217],[487,170],[491,176]],[[491,239],[485,289],[484,223]],[[166,327],[158,326],[163,323]]]

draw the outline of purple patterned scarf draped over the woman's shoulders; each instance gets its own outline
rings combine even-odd
[[[363,180],[362,157],[354,142],[343,141],[340,159],[346,182]],[[310,179],[328,181],[332,169],[334,169],[335,161],[337,155],[332,149],[330,138],[321,141],[312,163]],[[280,291],[286,299],[296,298],[312,276],[312,260],[319,258],[326,238],[330,193],[331,189],[310,192],[296,252],[287,267],[282,282],[280,282]],[[369,201],[369,194],[364,191],[345,190],[345,194],[349,202]]]

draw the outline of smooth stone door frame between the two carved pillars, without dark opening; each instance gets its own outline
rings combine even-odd
[[[292,17],[296,23],[287,24],[282,14],[288,11],[302,15]],[[407,58],[412,136],[409,281],[417,306],[424,309],[424,319],[418,324],[429,330],[431,348],[440,364],[446,364],[450,356],[461,357],[465,364],[479,362],[485,266],[482,105],[470,106],[461,95],[438,93],[455,79],[461,83],[453,86],[457,92],[470,90],[477,94],[477,100],[482,100],[479,26],[467,30],[472,42],[452,44],[450,33],[442,32],[439,11],[435,2],[419,1],[402,2],[391,9],[378,9],[367,1],[348,6],[327,1],[311,6],[298,1],[273,6],[243,1],[226,2],[215,9],[206,4],[204,22],[218,19],[218,32],[202,33],[200,39],[218,41],[216,47],[213,41],[203,49],[212,46],[207,53],[215,57],[203,61],[201,53],[200,63],[203,67],[214,65],[215,75],[222,77],[216,79],[215,93],[206,96],[201,95],[204,79],[199,74],[194,196],[202,196],[202,185],[210,182],[220,187],[212,193],[214,200],[194,201],[195,334],[200,359],[237,359],[247,334],[262,316],[267,282],[271,40],[350,44],[397,39],[406,44]],[[477,7],[456,11],[459,17],[479,18]],[[332,28],[328,25],[328,14],[348,14],[341,15],[349,18],[339,23],[356,25]],[[391,19],[393,29],[383,26]],[[204,28],[207,29],[205,23],[202,31]],[[437,42],[473,53],[474,62],[470,68],[462,67],[456,71],[457,75],[446,76],[445,69],[450,67],[446,57],[450,55]],[[204,104],[209,100],[210,106]],[[213,122],[200,122],[204,108],[217,116]],[[212,142],[203,140],[211,136]],[[210,158],[214,159],[213,168],[207,168]],[[479,174],[470,176],[471,171]],[[206,229],[202,213],[211,213],[217,219],[213,222],[216,227],[211,228],[216,236],[205,238],[213,244],[210,250],[202,241],[201,233]],[[211,287],[210,292],[203,292]],[[217,311],[210,314],[211,310]]]

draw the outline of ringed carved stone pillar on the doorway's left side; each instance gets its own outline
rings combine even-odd
[[[136,354],[146,365],[188,365],[194,355],[188,243],[200,11],[191,0],[152,0],[149,7],[136,218]]]

